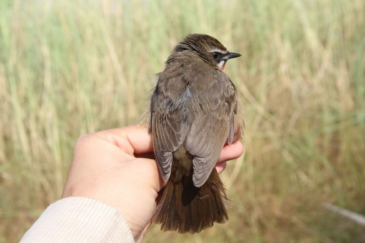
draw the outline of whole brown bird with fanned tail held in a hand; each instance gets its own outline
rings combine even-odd
[[[149,132],[161,176],[169,179],[153,219],[162,230],[195,233],[228,220],[215,164],[223,145],[243,129],[236,88],[223,72],[238,56],[212,36],[192,34],[158,74]]]

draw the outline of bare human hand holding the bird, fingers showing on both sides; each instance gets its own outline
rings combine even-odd
[[[225,161],[243,153],[239,137],[236,133],[234,142],[224,145],[218,173]],[[87,134],[77,141],[62,198],[88,197],[114,207],[138,240],[150,225],[158,192],[166,182],[153,159],[147,128],[129,126]]]

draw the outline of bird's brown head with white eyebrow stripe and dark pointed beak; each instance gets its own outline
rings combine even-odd
[[[222,71],[226,68],[228,59],[241,56],[241,54],[227,51],[227,48],[214,37],[203,34],[188,35],[183,41],[176,45],[174,51],[193,51],[199,58],[204,59],[213,67]]]

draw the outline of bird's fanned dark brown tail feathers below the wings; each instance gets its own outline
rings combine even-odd
[[[200,188],[193,184],[192,168],[178,181],[173,180],[173,173],[176,171],[172,170],[154,213],[153,222],[160,223],[161,230],[196,233],[228,220],[227,206],[230,204],[215,168]]]

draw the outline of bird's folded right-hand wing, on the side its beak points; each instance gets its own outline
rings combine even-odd
[[[214,85],[197,98],[200,110],[190,124],[185,149],[194,156],[193,183],[201,187],[212,172],[223,145],[234,136],[237,95],[234,85],[223,72],[217,71]]]

